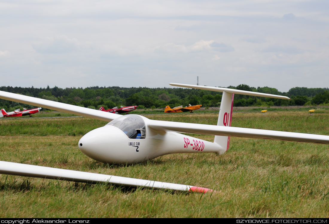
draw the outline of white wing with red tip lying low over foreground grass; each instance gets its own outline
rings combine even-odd
[[[160,189],[171,189],[177,191],[191,191],[206,193],[207,191],[212,192],[213,190],[208,188],[200,188],[184,184],[173,184],[166,182],[159,182],[153,180],[143,180],[122,176],[112,176],[100,173],[88,173],[75,170],[65,170],[52,167],[35,166],[22,163],[13,163],[0,161],[0,173],[29,176],[29,177],[40,177],[55,180],[68,180],[76,182],[86,183],[112,183],[117,185],[127,185],[136,187],[148,187],[148,188],[160,188]]]

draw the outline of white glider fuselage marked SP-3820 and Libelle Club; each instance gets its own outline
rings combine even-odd
[[[92,159],[104,163],[139,163],[170,153],[219,153],[220,147],[214,142],[190,137],[177,132],[155,131],[148,127],[149,119],[131,114],[123,117],[139,117],[145,123],[144,137],[132,134],[129,138],[116,127],[117,118],[104,127],[88,132],[79,141],[79,149]],[[145,128],[146,127],[146,128]],[[132,127],[132,132],[139,132],[139,127]],[[130,133],[130,131],[128,130]],[[135,137],[136,136],[136,137]],[[226,149],[225,149],[226,150]],[[225,151],[224,150],[224,151]],[[223,152],[224,152],[223,151]]]

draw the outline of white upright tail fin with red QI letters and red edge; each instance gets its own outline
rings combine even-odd
[[[217,126],[231,126],[234,93],[223,92],[220,103]],[[220,147],[219,154],[224,153],[230,147],[230,136],[215,135],[214,143]]]

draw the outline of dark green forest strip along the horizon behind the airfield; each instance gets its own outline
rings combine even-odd
[[[329,105],[328,88],[295,87],[288,92],[279,92],[270,87],[250,87],[245,84],[227,88],[285,95],[291,100],[234,95],[234,106],[294,106],[294,105]],[[202,104],[203,107],[218,107],[222,93],[183,88],[122,88],[122,87],[88,87],[88,88],[22,88],[0,87],[1,91],[19,93],[42,99],[97,109],[137,105],[139,109],[164,108]],[[0,100],[0,107],[7,111],[29,107],[27,105]]]

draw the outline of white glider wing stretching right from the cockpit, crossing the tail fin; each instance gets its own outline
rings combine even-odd
[[[296,132],[280,132],[262,129],[237,128],[206,124],[150,120],[149,127],[158,131],[174,131],[194,134],[211,134],[247,138],[329,144],[329,136]]]

